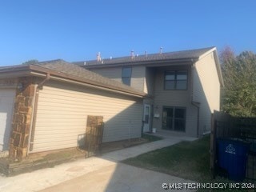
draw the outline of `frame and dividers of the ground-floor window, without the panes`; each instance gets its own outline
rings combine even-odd
[[[165,129],[164,126],[163,126],[163,111],[164,109],[172,109],[173,110],[173,116],[171,117],[172,118],[172,129]],[[184,118],[175,118],[175,110],[176,109],[182,109],[182,110],[185,110],[184,111]],[[184,120],[184,130],[175,130],[175,119],[178,119],[178,120]],[[178,131],[178,132],[186,132],[186,107],[183,107],[183,106],[162,106],[162,129],[163,130],[172,130],[172,131]]]

